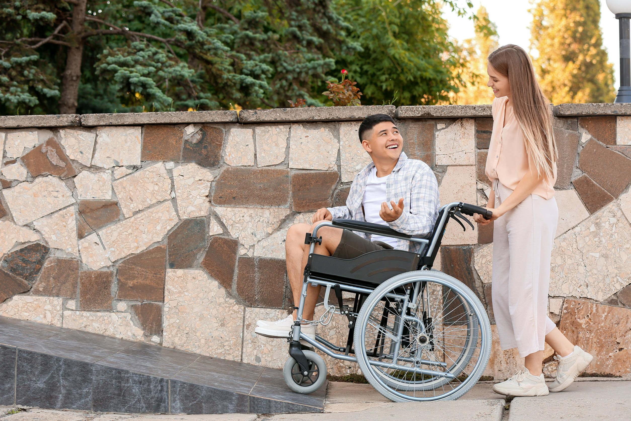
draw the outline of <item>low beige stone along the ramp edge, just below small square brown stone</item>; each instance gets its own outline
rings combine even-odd
[[[130,341],[144,341],[143,329],[134,326],[130,313],[64,311],[64,328],[79,329]]]

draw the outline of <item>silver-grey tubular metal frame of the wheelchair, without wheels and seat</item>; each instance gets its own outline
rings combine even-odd
[[[416,243],[420,243],[420,244],[425,244],[427,247],[425,247],[425,250],[423,250],[422,252],[420,252],[417,256],[420,258],[421,256],[426,257],[426,256],[432,256],[434,249],[436,249],[437,247],[440,246],[440,240],[442,239],[442,234],[444,234],[444,229],[445,226],[447,225],[447,222],[449,220],[449,218],[454,218],[456,219],[456,217],[454,216],[454,213],[458,213],[459,210],[463,210],[464,213],[467,213],[466,211],[464,211],[464,206],[471,206],[471,205],[466,205],[463,204],[461,202],[453,202],[453,203],[449,203],[448,205],[444,205],[440,208],[440,219],[436,222],[435,224],[435,228],[433,229],[433,235],[430,239],[421,239],[421,238],[414,238],[414,237],[410,237],[408,235],[390,235],[390,234],[385,234],[382,232],[376,232],[375,230],[370,230],[370,229],[356,229],[356,228],[345,228],[345,229],[351,229],[354,231],[360,231],[360,232],[365,232],[367,234],[379,234],[379,235],[386,235],[387,237],[392,237],[392,238],[397,238],[397,239],[404,239],[404,240],[408,240],[408,241],[412,241],[412,242],[416,242]],[[477,206],[476,206],[477,207]],[[480,209],[480,208],[478,208]],[[468,215],[472,215],[472,213],[467,213]],[[459,217],[463,218],[462,215],[458,215]],[[464,219],[464,218],[463,218]],[[458,220],[456,220],[457,222],[459,222]],[[468,222],[468,220],[466,221]],[[469,223],[469,222],[468,222]],[[460,223],[460,225],[462,225],[462,223]],[[471,225],[471,223],[469,223],[469,225]],[[321,227],[325,227],[325,226],[331,226],[331,227],[336,227],[333,222],[331,221],[322,221],[321,223],[319,223],[318,225],[316,225],[316,227],[314,228],[313,233],[311,234],[311,244],[310,244],[310,249],[309,249],[309,254],[312,255],[314,253],[314,249],[315,249],[315,242],[317,242],[317,231],[319,230],[319,228]],[[471,225],[471,227],[473,227],[473,225]],[[336,227],[339,228],[339,227]],[[464,228],[464,226],[463,226]],[[433,262],[433,260],[432,260]],[[418,263],[418,268],[417,270],[429,270],[430,267],[428,267],[430,265],[428,264],[424,264],[423,261],[420,261]],[[432,279],[433,282],[438,282],[435,279]],[[411,303],[415,303],[416,299],[418,298],[418,293],[419,291],[421,291],[421,288],[419,287],[420,283],[422,282],[422,280],[419,280],[418,282],[416,282],[416,287],[414,288],[414,292],[413,295],[411,297],[410,300],[410,295],[406,292],[404,294],[388,294],[387,297],[390,297],[392,299],[395,300],[401,300],[401,302],[403,303],[403,309],[405,310],[408,305],[410,305]],[[298,365],[300,366],[301,370],[305,370],[304,367],[307,367],[307,360],[304,357],[304,353],[302,353],[302,347],[300,347],[300,342],[299,340],[304,340],[307,343],[309,343],[309,345],[311,345],[314,348],[317,348],[319,350],[321,350],[322,352],[326,353],[326,355],[329,355],[329,357],[333,357],[334,359],[339,359],[339,360],[346,360],[346,361],[351,361],[351,362],[357,362],[357,357],[353,357],[351,355],[348,355],[349,353],[354,353],[350,347],[337,347],[336,345],[334,345],[333,343],[330,343],[329,341],[324,340],[323,338],[321,338],[320,336],[316,335],[316,340],[312,340],[311,338],[309,338],[309,336],[305,335],[304,333],[302,333],[300,331],[300,325],[301,323],[306,323],[307,321],[305,321],[302,317],[302,312],[304,309],[304,304],[305,304],[305,297],[307,297],[307,287],[309,286],[309,284],[311,284],[314,287],[317,287],[318,285],[321,285],[322,287],[326,287],[326,293],[325,293],[325,298],[324,298],[324,305],[326,307],[326,309],[329,309],[329,293],[331,292],[331,288],[333,288],[336,285],[339,285],[339,289],[342,291],[346,291],[346,292],[351,292],[351,293],[355,293],[355,294],[365,294],[365,295],[370,295],[373,291],[374,288],[363,288],[363,287],[357,287],[355,285],[345,285],[343,282],[333,282],[333,281],[328,281],[328,280],[322,280],[322,279],[317,279],[317,278],[312,278],[311,276],[309,276],[308,271],[305,270],[305,278],[304,278],[304,282],[302,285],[302,294],[300,295],[300,304],[298,304],[298,317],[297,317],[297,321],[295,322],[294,326],[293,326],[293,332],[291,335],[291,338],[288,338],[288,341],[290,342],[290,355],[296,360],[296,362],[298,363]],[[459,290],[459,288],[455,287],[454,285],[449,285],[449,287],[453,288],[454,290],[456,290],[456,292],[458,292],[459,294],[463,294],[463,292],[461,290]],[[375,287],[376,288],[376,287]],[[357,295],[356,295],[356,302],[357,302]],[[341,305],[341,302],[339,303]],[[360,306],[361,306],[360,302]],[[341,311],[341,309],[340,309]],[[404,312],[404,311],[403,311]],[[340,312],[336,312],[335,314],[341,314]],[[417,323],[420,326],[420,330],[424,333],[425,332],[425,324],[423,323],[423,321],[421,319],[419,319],[418,317],[414,317],[414,316],[404,316],[404,318],[410,322],[413,323]],[[352,322],[351,322],[352,323]],[[350,330],[355,328],[355,324],[349,324],[349,335],[351,335]],[[365,329],[365,326],[361,326],[360,328]],[[399,338],[401,338],[401,335],[403,334],[403,328],[404,328],[404,323],[399,323],[398,326],[398,332],[397,335]],[[350,343],[350,339],[348,340]],[[454,374],[451,374],[449,372],[440,372],[440,371],[433,371],[433,370],[427,370],[427,369],[420,369],[418,367],[408,367],[406,365],[399,365],[398,361],[405,361],[405,362],[415,362],[415,359],[413,358],[409,358],[409,357],[399,357],[399,347],[400,347],[401,342],[398,341],[398,343],[396,343],[396,345],[394,346],[394,352],[389,353],[388,355],[383,355],[382,359],[385,360],[389,360],[390,362],[385,362],[385,361],[374,361],[371,360],[370,364],[371,365],[375,365],[375,366],[379,366],[379,367],[386,367],[388,369],[398,369],[401,371],[406,371],[406,372],[415,372],[416,374],[425,374],[425,375],[429,375],[429,376],[437,376],[437,377],[446,377],[448,379],[455,379],[456,376],[454,376]],[[357,346],[357,344],[355,344]],[[337,351],[337,352],[335,352]],[[340,353],[340,352],[345,352],[345,353]],[[441,367],[447,367],[447,363],[445,362],[437,362],[437,361],[430,361],[430,360],[420,360],[420,363],[423,365],[433,365],[433,366],[441,366]],[[477,364],[480,364],[480,362],[478,361]],[[476,365],[477,365],[476,364]],[[460,389],[461,387],[464,386],[464,383],[461,383],[459,386],[457,386],[456,388],[454,388],[449,394],[452,393],[456,393],[456,391],[458,389]],[[421,398],[421,400],[424,400]]]

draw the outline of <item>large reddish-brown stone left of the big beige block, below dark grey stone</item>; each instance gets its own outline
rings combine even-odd
[[[154,247],[118,265],[119,300],[164,301],[167,246]]]

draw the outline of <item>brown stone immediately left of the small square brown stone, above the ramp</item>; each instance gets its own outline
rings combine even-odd
[[[79,261],[76,259],[50,258],[42,268],[33,295],[76,298],[79,283]]]

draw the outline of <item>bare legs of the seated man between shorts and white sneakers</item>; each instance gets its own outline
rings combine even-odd
[[[287,231],[285,240],[287,276],[292,286],[293,302],[298,306],[300,303],[300,293],[302,292],[302,283],[304,280],[304,270],[309,260],[309,245],[305,244],[305,234],[313,232],[319,222],[313,225],[306,223],[298,223],[292,225]],[[314,253],[324,256],[331,256],[338,248],[339,241],[342,239],[341,228],[321,227],[317,232],[318,237],[322,236],[322,244],[315,244]],[[320,287],[307,287],[307,297],[305,297],[305,306],[302,311],[302,318],[313,320],[315,304],[320,294]],[[293,319],[297,317],[297,311],[293,312]]]

